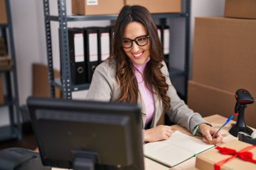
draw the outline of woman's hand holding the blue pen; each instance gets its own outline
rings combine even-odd
[[[217,144],[222,143],[223,137],[218,132],[216,134],[215,138],[212,138],[212,136],[217,132],[218,129],[213,128],[207,124],[200,124],[199,125],[199,131],[203,135],[203,142],[206,142],[208,144]]]

